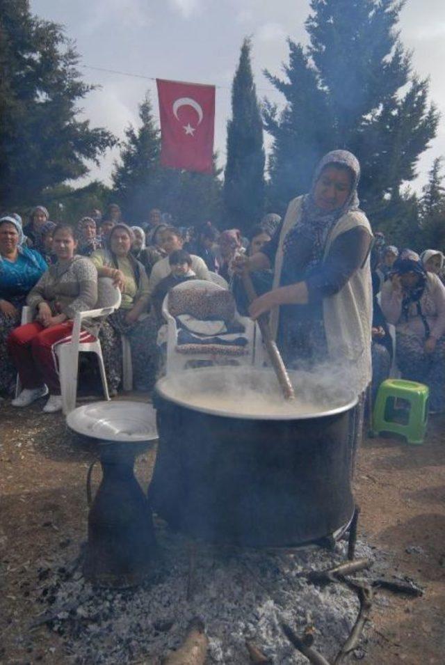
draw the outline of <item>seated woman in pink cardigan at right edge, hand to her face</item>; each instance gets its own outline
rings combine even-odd
[[[445,287],[419,256],[401,252],[382,288],[382,312],[396,326],[403,378],[430,387],[430,409],[445,409]]]

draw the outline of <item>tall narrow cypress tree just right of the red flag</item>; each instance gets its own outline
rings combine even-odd
[[[264,212],[263,125],[245,39],[232,84],[224,180],[225,226],[247,230]]]

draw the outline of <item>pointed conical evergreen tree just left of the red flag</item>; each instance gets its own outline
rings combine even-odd
[[[148,211],[159,208],[162,173],[159,165],[160,132],[152,114],[149,95],[139,106],[140,127],[125,130],[126,141],[115,164],[113,189],[124,219],[133,224],[147,221]]]

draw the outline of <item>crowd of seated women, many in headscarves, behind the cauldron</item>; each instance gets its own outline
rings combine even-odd
[[[111,204],[93,210],[77,224],[55,224],[42,205],[26,224],[16,213],[0,219],[0,396],[13,397],[17,375],[22,392],[15,407],[48,395],[45,412],[61,408],[56,345],[70,341],[77,311],[97,302],[97,280],[109,277],[122,293],[120,308],[100,324],[86,322],[81,340],[99,336],[108,386],[122,384],[122,338],[130,345],[133,387],[151,391],[159,372],[156,337],[165,294],[184,279],[212,279],[217,273],[234,293],[238,310],[248,313],[236,257],[264,250],[280,228],[268,214],[247,238],[236,228],[206,222],[193,229],[172,224],[153,208],[141,226],[125,224]],[[372,395],[391,366],[407,379],[430,386],[432,411],[445,410],[444,255],[433,249],[421,256],[399,251],[375,234],[373,277]],[[273,272],[252,274],[259,295],[270,290]],[[21,325],[29,305],[33,320]],[[395,344],[389,327],[394,326]],[[393,358],[395,349],[395,357]]]

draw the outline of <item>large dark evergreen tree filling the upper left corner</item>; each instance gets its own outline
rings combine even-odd
[[[0,0],[0,34],[0,198],[12,208],[86,175],[85,160],[97,162],[115,139],[78,118],[94,86],[60,26],[33,16],[28,0]]]

